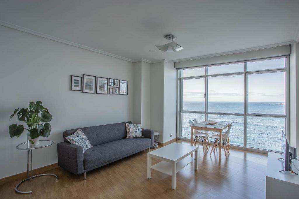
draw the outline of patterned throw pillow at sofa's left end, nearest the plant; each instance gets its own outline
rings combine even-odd
[[[82,146],[83,153],[92,147],[89,140],[87,139],[86,135],[83,133],[81,129],[78,129],[76,132],[74,132],[72,135],[65,137],[67,141],[69,141],[71,144],[75,144],[78,146]]]

